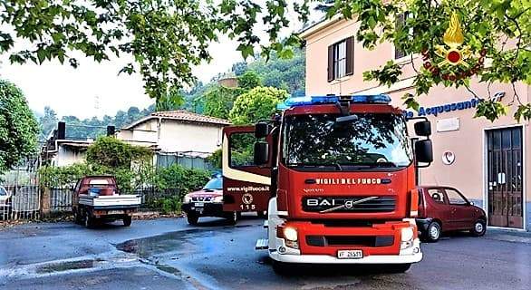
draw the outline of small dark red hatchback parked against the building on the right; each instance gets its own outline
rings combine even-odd
[[[487,231],[487,215],[474,206],[458,189],[439,186],[419,187],[419,217],[416,218],[421,238],[437,242],[442,233],[468,230],[481,237]]]

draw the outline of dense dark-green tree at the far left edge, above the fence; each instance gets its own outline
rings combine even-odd
[[[0,173],[34,154],[38,134],[39,125],[23,92],[0,81]]]

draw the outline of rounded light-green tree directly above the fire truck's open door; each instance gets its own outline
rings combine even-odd
[[[229,120],[234,124],[253,124],[259,120],[270,119],[276,111],[276,105],[283,102],[287,92],[271,87],[256,87],[237,97],[229,112]]]

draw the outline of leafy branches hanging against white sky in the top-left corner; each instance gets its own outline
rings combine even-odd
[[[57,59],[73,67],[76,53],[96,62],[130,54],[134,63],[121,73],[140,73],[160,102],[192,84],[191,67],[210,59],[208,43],[221,28],[216,10],[199,0],[2,1],[0,53],[12,63]],[[15,41],[31,44],[12,51]]]

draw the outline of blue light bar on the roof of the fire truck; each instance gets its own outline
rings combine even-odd
[[[285,110],[295,106],[331,104],[336,102],[340,102],[340,97],[336,95],[290,97],[285,102],[279,103],[276,109]],[[391,102],[391,98],[386,94],[352,95],[351,102],[388,104]]]

